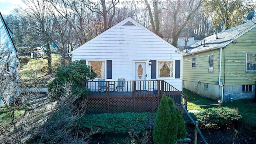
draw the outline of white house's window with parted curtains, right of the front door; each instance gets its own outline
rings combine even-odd
[[[158,77],[172,78],[173,77],[173,62],[158,62]]]

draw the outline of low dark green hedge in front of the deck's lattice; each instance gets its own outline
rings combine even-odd
[[[115,114],[90,114],[81,118],[81,129],[97,130],[98,133],[124,134],[134,130],[137,134],[143,133],[154,117],[152,113],[115,113]],[[78,120],[80,122],[80,120]]]

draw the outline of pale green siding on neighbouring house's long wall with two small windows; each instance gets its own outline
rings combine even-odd
[[[210,50],[183,56],[183,80],[191,82],[198,82],[200,80],[201,83],[214,84],[219,73],[219,50]],[[214,58],[214,71],[208,72],[208,55],[211,54],[213,54]],[[196,58],[196,68],[192,68],[192,58]]]

